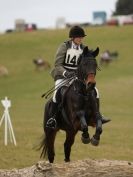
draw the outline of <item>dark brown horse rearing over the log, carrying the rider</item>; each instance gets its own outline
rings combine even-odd
[[[102,122],[96,118],[96,93],[94,89],[96,83],[95,75],[98,69],[95,57],[98,53],[99,48],[95,51],[90,51],[88,47],[85,47],[78,60],[79,64],[75,78],[70,81],[69,87],[62,87],[58,91],[61,104],[56,115],[56,129],[46,126],[46,122],[50,118],[51,99],[45,105],[43,124],[45,134],[40,149],[42,149],[41,157],[47,155],[50,163],[54,162],[54,142],[59,129],[66,132],[66,140],[64,142],[65,162],[70,161],[71,147],[78,131],[82,131],[81,140],[84,144],[89,142],[94,146],[99,144]],[[92,138],[89,136],[88,126],[96,127]]]

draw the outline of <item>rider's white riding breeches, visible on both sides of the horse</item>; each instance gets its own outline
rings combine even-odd
[[[55,81],[55,91],[54,91],[54,95],[53,95],[53,102],[54,103],[56,103],[56,93],[57,93],[58,89],[60,88],[60,86],[65,85],[66,80],[67,79],[58,79]],[[99,91],[96,87],[95,87],[95,91],[96,91],[96,98],[99,98]]]

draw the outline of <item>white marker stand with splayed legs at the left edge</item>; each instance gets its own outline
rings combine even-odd
[[[11,107],[11,101],[8,100],[7,97],[5,97],[5,100],[1,100],[1,103],[5,108],[4,114],[0,121],[0,126],[1,126],[2,122],[5,120],[5,137],[4,137],[5,146],[7,146],[8,143],[8,133],[10,136],[11,143],[14,143],[14,145],[16,146],[17,143],[16,143],[16,139],[15,139],[15,135],[14,135],[14,131],[13,131],[13,127],[12,127],[12,123],[8,111],[9,107]]]

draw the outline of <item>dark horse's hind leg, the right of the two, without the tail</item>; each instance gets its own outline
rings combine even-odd
[[[65,162],[70,162],[71,147],[74,143],[75,135],[76,133],[74,132],[66,132],[66,140],[64,143]]]

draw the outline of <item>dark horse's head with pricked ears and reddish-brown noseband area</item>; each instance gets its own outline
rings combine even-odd
[[[88,47],[85,47],[82,55],[79,59],[78,67],[78,78],[85,82],[85,84],[94,83],[95,84],[95,75],[97,70],[97,61],[96,56],[99,53],[99,48],[91,51]]]

